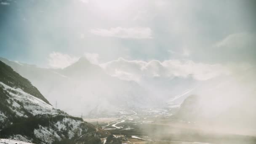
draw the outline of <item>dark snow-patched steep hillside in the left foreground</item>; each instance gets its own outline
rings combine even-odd
[[[0,61],[0,136],[31,143],[100,141],[107,131],[54,109],[30,82]],[[79,141],[81,137],[88,139]],[[79,139],[78,139],[79,138]]]

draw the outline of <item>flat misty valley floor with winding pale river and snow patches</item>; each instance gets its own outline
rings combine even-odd
[[[210,126],[202,131],[197,123],[172,120],[166,109],[130,111],[130,115],[112,117],[112,122],[94,119],[91,123],[122,139],[122,144],[256,144],[253,136],[216,133]]]

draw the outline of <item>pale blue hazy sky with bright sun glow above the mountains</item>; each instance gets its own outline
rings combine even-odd
[[[155,62],[152,67],[157,69],[157,64],[182,67],[177,73],[184,75],[213,68],[226,73],[227,65],[256,62],[255,4],[253,0],[0,0],[0,56],[48,68],[64,68],[84,56],[102,67],[113,61],[119,62],[116,67],[142,61]],[[124,74],[112,70],[113,75]],[[131,74],[126,72],[125,77]],[[137,79],[134,74],[129,77]]]

